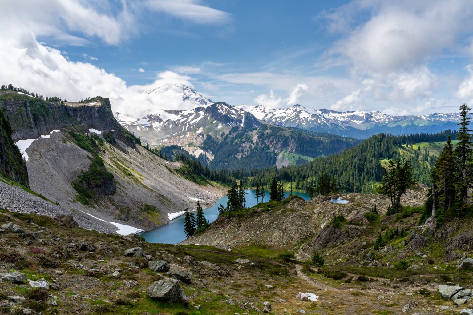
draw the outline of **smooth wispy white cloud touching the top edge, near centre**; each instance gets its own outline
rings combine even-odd
[[[149,9],[199,24],[224,24],[232,18],[227,12],[201,5],[199,0],[147,0],[145,3]]]

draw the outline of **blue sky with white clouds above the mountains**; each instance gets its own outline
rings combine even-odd
[[[145,91],[391,115],[473,105],[471,0],[0,0],[0,82],[114,111]],[[165,109],[184,109],[169,102]]]

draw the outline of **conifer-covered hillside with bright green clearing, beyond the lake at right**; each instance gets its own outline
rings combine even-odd
[[[344,192],[373,192],[382,179],[381,168],[387,160],[409,161],[415,181],[430,184],[431,168],[438,152],[435,150],[455,133],[447,130],[437,134],[393,136],[379,134],[341,153],[315,159],[303,165],[270,168],[250,174],[248,185],[269,186],[275,177],[294,182],[296,189],[308,191],[324,174],[336,179],[336,188]],[[433,149],[431,152],[430,150]]]

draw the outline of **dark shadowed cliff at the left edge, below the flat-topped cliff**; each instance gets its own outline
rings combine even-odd
[[[12,128],[9,120],[0,111],[0,174],[12,178],[29,187],[28,170],[18,147],[11,139]]]

